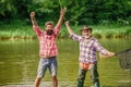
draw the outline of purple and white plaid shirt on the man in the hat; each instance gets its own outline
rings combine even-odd
[[[80,44],[79,61],[82,63],[95,63],[97,61],[96,51],[102,54],[106,54],[108,52],[108,50],[106,50],[94,37],[85,39],[83,36],[75,34],[72,34],[70,37]]]

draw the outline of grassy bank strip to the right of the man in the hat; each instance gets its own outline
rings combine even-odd
[[[103,38],[131,38],[130,25],[98,25],[93,26],[94,35]]]

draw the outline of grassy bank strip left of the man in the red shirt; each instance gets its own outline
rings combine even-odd
[[[20,21],[0,26],[0,39],[33,39],[35,37],[32,25]]]

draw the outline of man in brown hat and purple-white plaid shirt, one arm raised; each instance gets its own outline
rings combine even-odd
[[[92,36],[92,28],[84,26],[81,29],[82,36],[79,36],[72,32],[68,21],[66,22],[66,26],[70,33],[70,37],[80,44],[78,87],[84,86],[87,70],[91,72],[91,78],[94,83],[94,87],[99,87],[96,51],[105,58],[111,57],[115,53],[109,52],[100,46],[97,39]]]

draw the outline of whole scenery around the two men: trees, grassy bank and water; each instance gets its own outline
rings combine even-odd
[[[60,9],[67,13],[58,36],[59,87],[76,87],[79,44],[69,39],[66,21],[74,33],[83,25],[93,28],[93,36],[108,50],[131,48],[131,0],[0,0],[0,87],[33,87],[39,61],[39,44],[29,13],[36,12],[41,29],[45,22],[57,23]],[[97,55],[102,87],[131,87],[131,70],[122,70],[117,57]],[[87,72],[85,86],[92,87]],[[40,87],[51,87],[47,71]]]

